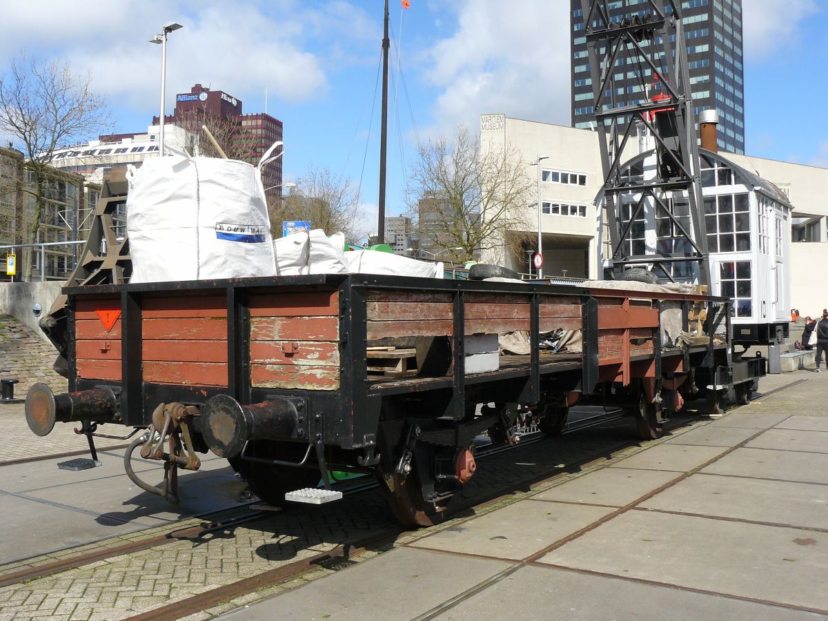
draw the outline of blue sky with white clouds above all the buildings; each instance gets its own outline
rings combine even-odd
[[[476,128],[480,113],[570,122],[569,0],[391,1],[388,211],[404,209],[417,137]],[[828,2],[743,0],[749,155],[828,166]],[[366,230],[378,200],[377,79],[383,0],[15,2],[0,57],[22,49],[91,71],[114,130],[142,131],[158,110],[160,48],[170,36],[167,105],[196,82],[285,124],[286,181],[328,166],[359,183]],[[397,63],[399,56],[399,64]],[[393,99],[395,94],[397,106]],[[815,113],[811,114],[811,109]],[[399,123],[397,123],[397,118]],[[364,158],[364,166],[363,166]]]

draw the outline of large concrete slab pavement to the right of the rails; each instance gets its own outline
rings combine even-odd
[[[806,382],[223,618],[825,618],[828,373],[795,376]]]

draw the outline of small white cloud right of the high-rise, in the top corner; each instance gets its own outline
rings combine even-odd
[[[766,58],[797,41],[799,22],[820,11],[816,0],[745,0],[742,8],[745,58]]]

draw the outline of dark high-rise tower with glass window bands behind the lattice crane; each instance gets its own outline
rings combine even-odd
[[[615,0],[607,4],[609,18],[615,23],[623,22],[625,17],[644,17],[652,12],[647,10],[650,0]],[[665,4],[669,15],[672,7],[669,2]],[[595,99],[580,0],[570,0],[570,9],[572,127],[590,128],[595,125]],[[696,115],[706,109],[718,110],[719,148],[743,154],[742,0],[683,0],[681,12]],[[599,53],[603,55],[603,51]],[[622,54],[615,72],[615,97],[619,105],[640,102],[660,92],[661,84],[652,70],[638,58]]]

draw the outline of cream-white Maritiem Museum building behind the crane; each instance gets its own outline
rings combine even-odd
[[[525,121],[503,114],[480,116],[483,148],[503,151],[506,147],[513,147],[525,162],[527,176],[532,180],[537,178],[537,168],[532,164],[537,156],[546,157],[541,161],[540,184],[545,277],[562,276],[565,269],[567,277],[601,277],[602,252],[599,244],[605,236],[595,208],[596,196],[603,185],[598,138],[598,133],[589,129]],[[621,161],[633,160],[646,148],[644,141],[630,140]],[[732,153],[720,153],[720,156],[750,175],[776,185],[792,205],[791,217],[781,217],[778,224],[782,227],[779,233],[783,243],[788,246],[788,264],[787,268],[776,272],[780,284],[790,283],[790,300],[778,300],[779,312],[774,315],[781,316],[791,307],[799,309],[803,315],[821,314],[821,310],[828,307],[828,287],[821,283],[815,286],[813,279],[814,274],[819,274],[828,265],[828,169]],[[708,195],[710,192],[715,194],[718,190],[708,188],[704,193]],[[527,205],[526,220],[537,223],[537,199],[531,203]],[[759,209],[758,203],[756,209]],[[753,206],[751,213],[754,213]],[[758,221],[754,226],[752,230],[758,233]],[[773,243],[776,243],[776,228],[774,219],[773,229],[768,229]],[[793,238],[792,229],[795,233]],[[800,233],[802,229],[806,232]],[[537,225],[522,233],[537,236]],[[797,243],[803,237],[810,243]],[[527,250],[533,251],[536,245],[537,242],[533,242]],[[483,260],[527,273],[531,272],[528,256],[528,253],[522,257],[508,253],[504,244],[501,252],[488,253]],[[773,266],[769,265],[768,270],[776,267],[777,255],[773,257]],[[782,290],[784,288],[782,286]],[[785,308],[787,305],[790,307]]]

